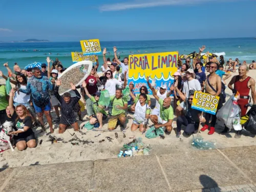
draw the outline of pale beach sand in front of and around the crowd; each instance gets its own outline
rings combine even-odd
[[[256,79],[256,74],[254,71],[249,71],[248,75]],[[237,75],[238,73],[233,73],[233,75]],[[228,83],[231,78],[226,80]],[[4,79],[0,79],[0,83],[4,83]],[[226,89],[227,97],[232,95],[231,90]],[[54,116],[55,113],[52,112]],[[88,116],[86,115],[86,111],[82,112],[84,123],[88,121]],[[192,136],[185,138],[182,136],[182,140],[175,137],[175,132],[173,131],[170,135],[165,135],[165,139],[161,139],[157,137],[155,139],[147,139],[145,134],[142,135],[138,130],[136,132],[131,132],[132,125],[132,116],[127,115],[129,118],[129,123],[127,123],[127,130],[125,130],[125,138],[123,138],[123,132],[97,132],[97,131],[87,131],[86,129],[82,129],[82,132],[86,132],[86,135],[81,135],[78,132],[74,132],[73,129],[68,129],[64,134],[58,134],[58,125],[54,125],[54,136],[57,138],[62,138],[65,141],[69,141],[74,136],[71,134],[75,133],[75,135],[81,140],[90,140],[94,143],[72,145],[70,142],[68,143],[51,143],[48,140],[48,136],[44,136],[39,134],[40,127],[33,129],[35,132],[38,142],[42,140],[41,144],[38,144],[36,148],[27,148],[27,150],[23,152],[17,151],[15,149],[14,152],[11,150],[5,151],[0,155],[0,167],[15,167],[15,166],[28,166],[34,164],[51,164],[51,163],[61,163],[61,162],[74,162],[74,161],[83,161],[83,160],[97,160],[97,159],[106,159],[106,158],[116,158],[122,145],[124,143],[128,143],[132,141],[134,137],[141,137],[143,143],[149,145],[152,150],[150,154],[164,154],[170,152],[173,148],[178,150],[195,150],[191,147],[190,141]],[[175,118],[176,119],[176,118]],[[79,121],[79,124],[81,122]],[[81,124],[81,125],[82,125]],[[152,122],[150,121],[150,125]],[[173,124],[176,127],[176,122]],[[105,122],[104,130],[107,130],[108,123]],[[229,136],[219,135],[224,129],[223,124],[217,121],[216,132],[214,135],[207,135],[208,132],[203,132],[200,135],[205,140],[216,140],[218,148],[225,147],[235,147],[235,146],[249,146],[255,145],[256,139],[253,135],[249,134],[247,131],[243,131],[243,135],[240,139],[234,138],[234,132],[230,133]],[[120,131],[120,127],[118,126],[117,131]],[[47,131],[49,132],[49,126],[47,126]],[[118,139],[115,138],[115,133],[118,133]],[[100,135],[99,135],[100,134]],[[99,136],[98,136],[99,135]],[[95,137],[97,136],[97,137]],[[105,137],[113,138],[113,142],[108,141]],[[131,139],[130,139],[131,138]],[[99,143],[100,140],[104,139],[105,141]]]

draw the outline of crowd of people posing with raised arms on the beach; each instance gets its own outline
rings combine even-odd
[[[19,151],[26,147],[36,146],[36,137],[33,127],[40,125],[42,132],[46,132],[46,121],[51,133],[54,133],[53,123],[58,124],[58,133],[62,134],[68,126],[72,126],[74,131],[79,130],[78,121],[83,121],[81,117],[80,100],[86,105],[89,123],[94,129],[101,130],[104,123],[108,123],[108,130],[113,131],[120,125],[125,129],[127,123],[127,113],[133,115],[131,131],[139,129],[140,132],[147,130],[149,121],[155,126],[155,129],[163,128],[166,134],[173,130],[174,114],[177,116],[177,128],[175,127],[176,137],[180,137],[182,125],[185,126],[184,134],[191,135],[198,132],[200,122],[204,123],[201,131],[209,130],[208,134],[215,133],[216,114],[201,112],[191,108],[191,103],[195,91],[205,92],[210,95],[220,96],[218,110],[225,103],[225,80],[230,78],[231,74],[224,72],[225,60],[221,56],[220,60],[209,57],[201,60],[200,54],[205,50],[205,46],[199,49],[199,53],[193,61],[189,57],[185,58],[185,63],[179,57],[179,69],[174,73],[174,83],[170,88],[165,85],[159,90],[155,89],[156,80],[150,82],[146,77],[147,86],[151,89],[156,105],[153,106],[151,97],[148,95],[148,88],[142,86],[139,94],[134,93],[134,84],[127,84],[129,74],[129,58],[125,57],[120,61],[117,56],[117,48],[114,47],[115,57],[105,58],[106,49],[103,49],[103,65],[98,76],[98,57],[97,65],[93,66],[90,75],[82,82],[80,86],[75,86],[72,82],[70,88],[72,91],[59,95],[58,90],[61,87],[61,81],[58,79],[65,68],[56,58],[53,62],[47,57],[47,64],[43,63],[41,69],[20,69],[15,63],[14,72],[5,63],[8,70],[8,76],[0,71],[0,76],[10,81],[14,88],[7,91],[7,86],[0,85],[0,121],[11,121],[15,125],[15,145]],[[52,62],[52,66],[51,66]],[[192,62],[192,63],[191,63]],[[238,62],[238,61],[237,61]],[[226,63],[230,65],[232,61]],[[235,65],[236,62],[234,62]],[[232,67],[233,67],[232,66]],[[254,67],[254,65],[252,65]],[[253,104],[256,104],[255,81],[247,76],[249,67],[239,66],[239,75],[233,76],[228,84],[228,88],[233,93],[240,93],[239,107],[242,116],[247,112],[249,101],[249,92]],[[225,76],[225,77],[224,77]],[[123,97],[123,89],[129,86],[129,99]],[[80,89],[80,93],[77,89]],[[102,91],[108,91],[110,102],[108,105],[100,103]],[[171,94],[173,94],[173,102]],[[154,107],[153,110],[151,110]],[[55,111],[56,119],[52,119],[51,110]],[[60,110],[60,112],[59,112]],[[218,111],[217,111],[218,113]],[[45,119],[43,118],[45,115]],[[78,118],[77,118],[78,117]],[[223,127],[223,134],[229,129]],[[241,131],[236,132],[236,138],[241,136]]]

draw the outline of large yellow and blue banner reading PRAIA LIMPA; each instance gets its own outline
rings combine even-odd
[[[151,53],[129,56],[129,83],[134,84],[134,92],[139,93],[142,86],[148,88],[146,77],[156,78],[155,89],[165,85],[167,91],[174,82],[174,73],[177,71],[178,52]]]

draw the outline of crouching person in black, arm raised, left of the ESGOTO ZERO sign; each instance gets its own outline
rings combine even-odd
[[[185,125],[184,134],[191,135],[198,131],[200,123],[200,114],[201,112],[191,108],[191,104],[194,98],[194,90],[189,91],[188,98],[179,90],[178,83],[175,82],[174,88],[176,92],[180,95],[180,98],[185,102],[187,108],[184,116],[179,116],[177,118],[177,133],[176,137],[181,135],[181,126]]]

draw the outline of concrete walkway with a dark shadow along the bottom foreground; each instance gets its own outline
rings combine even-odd
[[[256,146],[244,146],[6,168],[0,191],[252,192],[255,159]]]

